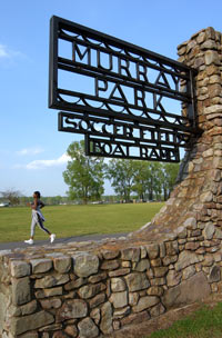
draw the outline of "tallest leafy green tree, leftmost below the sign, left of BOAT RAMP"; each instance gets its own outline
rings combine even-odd
[[[90,199],[100,199],[104,191],[103,159],[85,156],[84,141],[72,142],[67,153],[71,160],[63,178],[69,186],[70,199],[81,199],[83,203],[88,203]]]

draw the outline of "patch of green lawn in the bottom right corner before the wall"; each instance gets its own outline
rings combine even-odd
[[[222,302],[209,306],[175,321],[169,329],[159,330],[144,338],[221,338]]]

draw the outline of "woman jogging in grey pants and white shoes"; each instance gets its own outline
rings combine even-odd
[[[40,227],[40,229],[42,229],[44,232],[47,232],[50,237],[50,242],[54,241],[56,235],[51,233],[47,228],[44,228],[43,226],[43,221],[44,221],[44,217],[41,213],[41,208],[44,207],[44,203],[40,200],[40,192],[39,191],[34,191],[33,193],[33,202],[32,203],[28,203],[29,207],[31,207],[32,209],[32,220],[31,220],[31,237],[28,240],[24,240],[26,243],[28,245],[33,245],[33,239],[34,239],[34,230],[36,230],[36,226],[38,225]]]

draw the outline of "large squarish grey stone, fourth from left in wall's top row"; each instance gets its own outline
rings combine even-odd
[[[75,255],[72,258],[73,258],[74,274],[78,277],[89,277],[98,272],[99,270],[98,256],[83,252]]]

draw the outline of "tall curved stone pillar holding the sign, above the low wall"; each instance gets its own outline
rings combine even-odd
[[[203,29],[180,44],[178,53],[180,62],[198,70],[196,123],[202,135],[192,139],[167,205],[134,235],[148,240],[173,237],[181,226],[222,227],[222,34]]]

